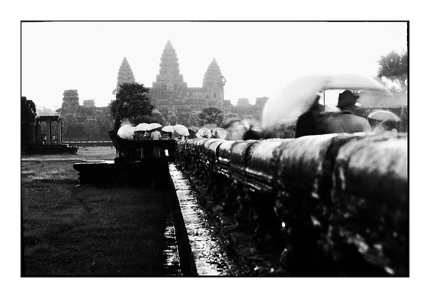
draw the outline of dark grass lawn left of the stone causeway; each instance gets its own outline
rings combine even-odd
[[[168,274],[168,187],[76,186],[73,163],[114,157],[110,147],[21,156],[22,275]]]

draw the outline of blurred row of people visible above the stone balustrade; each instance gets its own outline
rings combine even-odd
[[[188,138],[247,140],[268,137],[292,138],[304,135],[341,132],[397,132],[398,122],[396,121],[367,119],[357,114],[357,107],[360,106],[358,102],[359,94],[354,93],[351,90],[345,90],[342,93],[339,93],[336,105],[339,111],[337,112],[322,113],[323,106],[319,103],[319,99],[320,97],[317,95],[313,100],[313,104],[311,104],[311,106],[297,118],[294,124],[280,124],[280,127],[277,130],[281,130],[281,134],[276,133],[276,135],[267,136],[261,131],[258,124],[240,119],[230,121],[227,125],[222,126],[223,128],[215,127],[213,129],[209,129],[208,127],[201,127],[199,129],[193,129],[188,127],[187,131],[182,131],[181,133],[178,133],[176,130],[164,131],[163,129],[167,126],[161,127],[161,125],[151,130],[133,130],[134,127],[131,125],[128,125],[130,127],[124,127],[124,129],[130,129],[132,135],[128,138],[136,140],[185,140]]]

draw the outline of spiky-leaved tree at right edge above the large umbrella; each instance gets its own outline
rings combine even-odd
[[[379,63],[377,76],[385,77],[388,81],[397,84],[398,91],[406,92],[407,90],[407,51],[397,53],[391,51],[386,55],[381,55],[377,61]]]

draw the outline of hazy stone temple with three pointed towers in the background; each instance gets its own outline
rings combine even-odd
[[[188,119],[192,112],[201,111],[202,108],[209,106],[219,108],[223,111],[224,116],[260,118],[267,97],[255,98],[255,104],[250,104],[248,98],[238,98],[237,105],[232,105],[229,99],[224,99],[226,79],[215,58],[212,59],[203,74],[200,87],[188,87],[187,83],[183,81],[178,57],[170,40],[167,40],[161,53],[159,66],[159,73],[156,74],[152,86],[146,87],[149,87],[149,95],[155,104],[155,111],[163,115],[166,125],[169,123],[189,125]],[[131,66],[124,57],[119,66],[117,84],[112,93],[116,93],[117,87],[121,83],[135,81]],[[76,89],[64,90],[63,95],[61,109],[58,111],[61,115],[74,114],[78,123],[84,121],[84,118],[92,116],[96,109],[103,110],[106,115],[110,114],[108,106],[96,107],[92,99],[84,100],[84,104],[79,105]]]

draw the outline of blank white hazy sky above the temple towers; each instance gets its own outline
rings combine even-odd
[[[407,49],[406,30],[406,22],[24,22],[21,95],[53,107],[77,89],[81,104],[106,106],[122,58],[150,87],[170,39],[189,87],[201,86],[215,58],[224,98],[254,103],[307,74],[374,76],[380,55]]]

